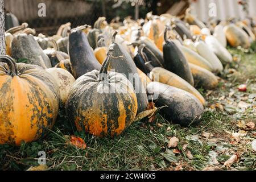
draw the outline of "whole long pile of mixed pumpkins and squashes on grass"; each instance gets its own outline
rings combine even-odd
[[[227,42],[248,48],[254,30],[246,21],[207,27],[189,11],[184,20],[148,13],[100,17],[93,28],[67,23],[53,36],[35,36],[27,23],[10,28],[0,56],[0,144],[44,137],[59,108],[97,137],[121,134],[151,99],[168,121],[198,123],[206,101],[196,88],[214,89],[232,62]]]

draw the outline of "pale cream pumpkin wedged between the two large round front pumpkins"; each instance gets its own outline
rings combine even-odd
[[[71,86],[76,81],[75,78],[67,70],[61,68],[49,68],[46,71],[55,79],[60,90],[61,105],[65,106]]]

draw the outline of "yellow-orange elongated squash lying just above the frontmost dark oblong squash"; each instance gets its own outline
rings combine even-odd
[[[204,97],[187,81],[183,80],[183,78],[177,76],[175,73],[172,73],[164,68],[156,67],[152,69],[150,78],[152,81],[158,81],[162,84],[167,84],[185,90],[193,94],[201,102],[201,104],[205,105]]]

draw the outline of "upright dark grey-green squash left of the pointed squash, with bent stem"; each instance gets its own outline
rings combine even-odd
[[[73,29],[69,35],[69,56],[75,78],[79,78],[94,69],[101,69],[86,34],[82,32],[83,28],[84,26]]]

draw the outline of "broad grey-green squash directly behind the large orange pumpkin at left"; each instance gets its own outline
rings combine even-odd
[[[49,57],[43,52],[43,49],[36,42],[34,36],[30,34],[18,34],[14,36],[13,42],[11,43],[11,55],[16,60],[26,58],[29,64],[47,68],[52,67]],[[39,56],[42,57],[43,61],[39,59]]]

